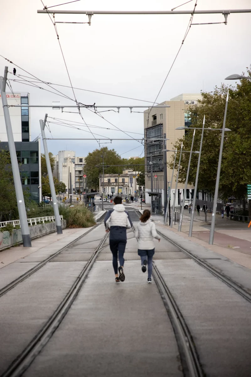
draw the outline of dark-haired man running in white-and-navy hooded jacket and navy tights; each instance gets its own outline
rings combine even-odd
[[[121,196],[115,196],[114,208],[109,210],[105,216],[105,231],[110,232],[110,249],[113,254],[113,268],[116,283],[125,280],[124,274],[124,253],[126,247],[126,229],[132,227],[132,221],[125,206],[122,204]],[[118,254],[120,267],[118,268]],[[119,270],[119,276],[118,276]]]

